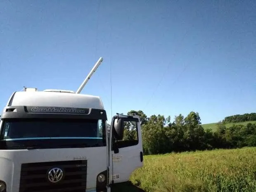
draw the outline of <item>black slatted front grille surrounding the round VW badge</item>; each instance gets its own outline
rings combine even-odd
[[[63,171],[58,183],[48,180],[52,168]],[[85,192],[86,177],[87,160],[22,164],[19,192]]]

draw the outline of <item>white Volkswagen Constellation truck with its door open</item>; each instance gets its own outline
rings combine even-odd
[[[108,134],[100,97],[80,94],[101,62],[76,92],[11,95],[0,122],[0,192],[111,192],[143,166],[140,118],[117,114]]]

